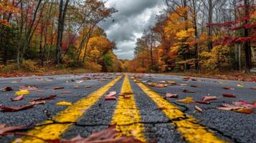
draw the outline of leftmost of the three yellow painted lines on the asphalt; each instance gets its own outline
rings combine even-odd
[[[118,82],[122,76],[117,77],[113,81],[106,84],[104,87],[101,87],[97,91],[89,94],[84,99],[73,104],[73,106],[68,107],[67,109],[63,110],[52,120],[56,122],[76,122],[82,114],[86,112],[87,109],[93,106],[100,97],[103,97],[105,92],[108,92],[108,89],[112,87],[116,82]],[[51,121],[45,121],[42,124],[51,123]],[[60,135],[70,127],[70,124],[47,124],[39,127],[35,127],[34,129],[27,132],[29,135],[33,135],[35,137],[39,137],[42,139],[60,139]],[[23,137],[20,139],[16,139],[14,142],[24,142],[24,143],[40,143],[43,142],[41,139],[35,139],[34,137]]]

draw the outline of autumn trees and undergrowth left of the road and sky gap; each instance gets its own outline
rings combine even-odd
[[[1,0],[1,71],[121,71],[115,41],[98,26],[115,12],[100,0]]]

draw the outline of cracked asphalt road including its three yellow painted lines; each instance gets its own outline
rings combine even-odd
[[[158,84],[152,86],[151,83]],[[37,89],[29,91],[20,101],[11,102],[20,87],[29,85]],[[256,101],[256,90],[251,89],[256,84],[252,82],[100,73],[0,79],[0,88],[3,87],[12,87],[14,91],[0,92],[2,106],[25,105],[33,99],[57,94],[54,99],[30,109],[1,111],[0,124],[33,124],[19,132],[34,136],[4,135],[0,137],[3,143],[72,139],[78,134],[85,138],[111,124],[116,124],[123,136],[132,136],[141,142],[256,142],[255,109],[252,114],[217,109],[240,100]],[[117,92],[116,100],[106,100],[105,96],[113,91]],[[179,97],[166,98],[166,93]],[[235,94],[236,98],[222,94]],[[179,102],[186,97],[192,97],[193,101],[202,101],[203,97],[217,97],[217,100],[209,101],[210,104]],[[57,105],[60,102],[69,102],[72,106]]]

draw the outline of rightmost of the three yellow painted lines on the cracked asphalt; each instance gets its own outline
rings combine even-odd
[[[162,112],[166,114],[166,116],[169,117],[169,119],[173,119],[172,124],[174,124],[174,126],[178,129],[182,137],[184,137],[184,139],[187,142],[226,142],[216,137],[213,132],[209,132],[209,129],[207,129],[207,127],[200,125],[198,120],[194,119],[193,117],[185,115],[183,112],[181,112],[179,107],[176,107],[170,102],[163,99],[161,95],[157,94],[156,92],[153,92],[153,90],[151,90],[145,84],[136,81],[136,79],[134,79],[134,81],[138,84],[139,87],[141,87],[143,92],[145,92],[148,95],[148,97],[150,97],[153,100],[153,102],[156,103],[158,107],[163,107]],[[184,118],[185,116],[186,118]],[[179,120],[179,118],[181,118],[181,120]]]

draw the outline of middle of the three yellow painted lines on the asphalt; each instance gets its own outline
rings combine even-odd
[[[111,124],[116,124],[116,130],[121,132],[120,136],[133,136],[136,139],[146,142],[143,131],[144,127],[141,122],[141,116],[136,107],[136,102],[131,89],[128,76],[125,75],[121,95],[129,96],[124,98],[119,96],[118,105],[115,109]]]

